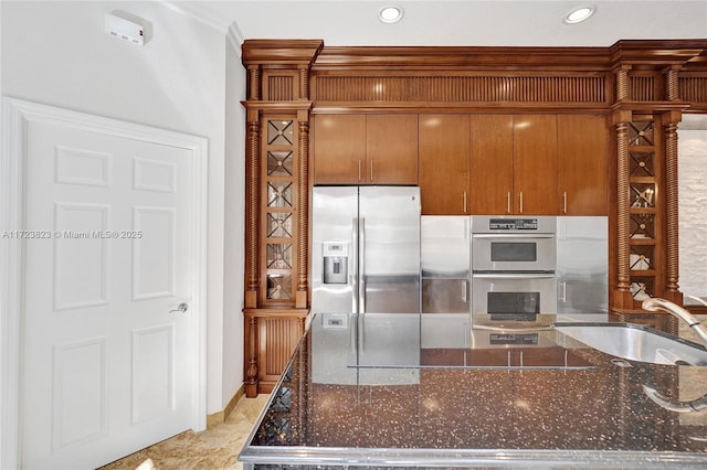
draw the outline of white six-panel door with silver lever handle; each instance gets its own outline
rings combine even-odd
[[[60,120],[24,132],[21,463],[95,468],[194,428],[199,162]]]

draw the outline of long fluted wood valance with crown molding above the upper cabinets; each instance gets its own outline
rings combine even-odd
[[[618,102],[683,102],[704,110],[706,51],[707,40],[631,40],[610,47],[325,46],[312,64],[309,98],[314,113],[606,113]]]

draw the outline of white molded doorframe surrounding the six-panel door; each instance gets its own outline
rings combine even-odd
[[[193,376],[194,431],[207,426],[207,227],[208,141],[203,137],[87,115],[67,109],[3,98],[2,153],[0,154],[0,469],[18,469],[21,461],[22,416],[22,302],[24,289],[24,244],[3,233],[24,228],[25,139],[31,121],[62,124],[109,136],[159,143],[191,151],[194,159],[192,184],[194,276],[193,314],[190,328],[196,370]],[[186,227],[184,227],[186,228]],[[190,308],[190,310],[192,310]]]

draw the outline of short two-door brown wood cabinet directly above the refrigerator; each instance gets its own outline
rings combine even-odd
[[[316,115],[315,184],[416,184],[418,115]]]

